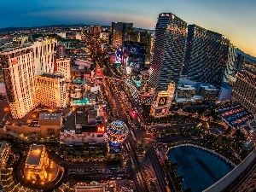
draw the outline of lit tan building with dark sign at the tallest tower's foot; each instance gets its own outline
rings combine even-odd
[[[165,117],[169,113],[172,99],[175,92],[175,84],[171,82],[168,90],[162,90],[158,93],[156,101],[151,105],[150,115],[154,117]]]

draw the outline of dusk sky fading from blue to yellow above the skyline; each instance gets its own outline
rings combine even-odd
[[[256,0],[1,0],[0,27],[126,21],[154,29],[164,12],[221,33],[256,56]]]

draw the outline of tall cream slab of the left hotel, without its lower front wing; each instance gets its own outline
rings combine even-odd
[[[54,73],[54,38],[41,38],[18,49],[3,50],[0,57],[7,98],[13,118],[20,119],[36,107],[37,77]]]

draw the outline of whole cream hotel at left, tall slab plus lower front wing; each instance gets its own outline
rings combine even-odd
[[[66,107],[65,76],[55,74],[55,46],[55,38],[39,38],[0,52],[13,118],[24,117],[40,103]]]

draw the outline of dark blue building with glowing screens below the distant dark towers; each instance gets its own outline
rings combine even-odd
[[[124,42],[124,65],[134,67],[137,71],[143,71],[145,65],[146,44],[125,41]]]

